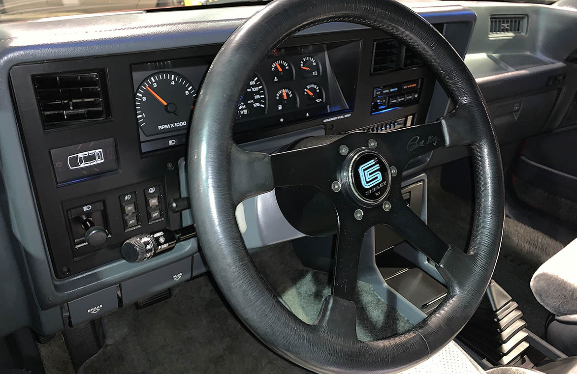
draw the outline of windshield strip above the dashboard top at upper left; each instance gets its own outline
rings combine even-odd
[[[76,14],[170,9],[193,6],[231,6],[260,0],[0,0],[0,22],[37,20]]]

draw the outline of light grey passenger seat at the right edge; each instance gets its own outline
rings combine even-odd
[[[577,239],[535,271],[531,290],[554,315],[546,340],[567,356],[577,356]]]

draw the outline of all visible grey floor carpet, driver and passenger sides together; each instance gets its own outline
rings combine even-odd
[[[467,244],[471,203],[440,187],[439,169],[429,176],[429,225],[461,248]],[[531,275],[562,244],[505,218],[494,279],[520,305],[531,331],[544,333],[548,312],[529,288]],[[329,292],[327,274],[304,268],[291,246],[275,245],[253,256],[255,263],[299,318],[312,323]],[[409,321],[389,308],[372,286],[359,283],[357,333],[373,340],[407,330]],[[104,317],[106,345],[80,374],[109,373],[305,373],[272,353],[243,326],[209,275],[174,289],[173,297],[151,307],[122,308]],[[40,346],[47,374],[73,374],[62,337]]]

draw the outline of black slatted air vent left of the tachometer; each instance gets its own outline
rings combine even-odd
[[[46,130],[108,118],[102,71],[35,75],[33,82]]]

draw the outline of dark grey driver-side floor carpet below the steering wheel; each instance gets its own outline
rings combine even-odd
[[[327,274],[302,267],[290,245],[266,248],[254,259],[291,310],[313,322],[329,292]],[[359,338],[372,340],[411,327],[372,286],[359,284],[358,297]],[[308,372],[249,333],[208,275],[178,286],[162,303],[105,316],[104,329],[106,345],[84,364],[81,374]]]

